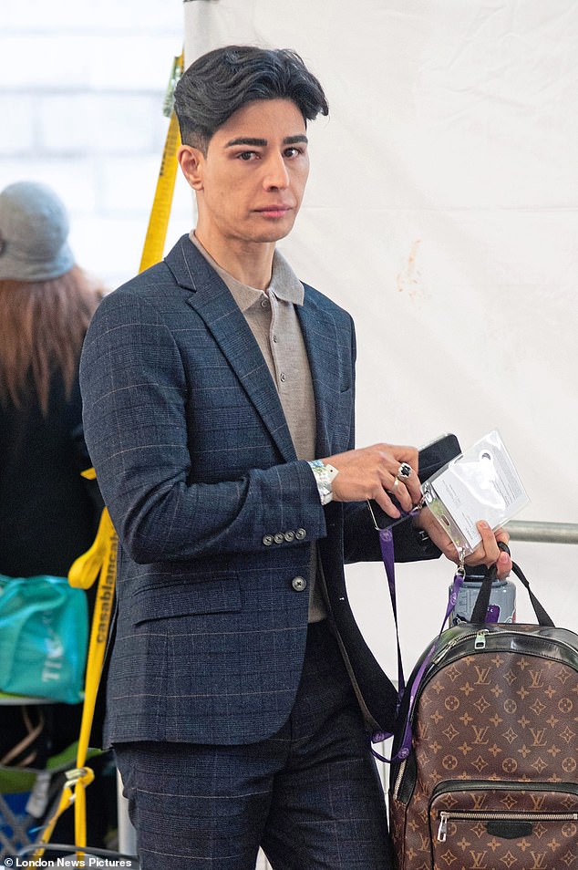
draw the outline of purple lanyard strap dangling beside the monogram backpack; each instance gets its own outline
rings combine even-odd
[[[401,659],[401,648],[399,646],[399,629],[397,627],[397,599],[396,599],[396,568],[395,568],[395,559],[394,559],[394,546],[393,546],[393,534],[391,529],[380,529],[379,531],[379,544],[381,546],[381,554],[383,556],[383,563],[386,568],[387,575],[387,585],[389,587],[389,596],[391,598],[391,606],[393,609],[394,621],[396,624],[396,642],[397,642],[397,710],[396,713],[399,713],[399,709],[401,706],[401,701],[406,692],[406,680],[404,678],[403,673],[403,663]],[[435,641],[429,647],[428,652],[424,656],[424,659],[419,666],[418,673],[416,674],[415,679],[413,680],[411,687],[409,689],[409,702],[408,702],[408,712],[406,714],[406,720],[404,724],[403,735],[401,741],[399,743],[399,748],[397,753],[393,756],[393,758],[385,758],[383,755],[380,755],[375,749],[372,748],[373,754],[376,756],[379,761],[386,761],[387,764],[391,764],[395,761],[403,761],[408,758],[409,752],[411,751],[411,744],[413,740],[413,735],[411,732],[411,717],[413,713],[413,709],[416,703],[416,697],[418,695],[419,685],[421,680],[428,669],[429,662],[438,647],[439,637],[441,636],[442,631],[444,630],[444,626],[446,625],[446,621],[449,619],[449,614],[453,610],[456,601],[458,600],[459,589],[464,580],[464,572],[463,569],[458,569],[456,574],[454,575],[453,585],[451,587],[449,593],[449,601],[448,606],[446,608],[446,613],[443,618],[443,622],[441,623],[441,628],[439,629],[439,635],[436,637]],[[371,736],[372,743],[379,743],[381,741],[386,741],[388,738],[393,735],[388,731],[374,731]]]

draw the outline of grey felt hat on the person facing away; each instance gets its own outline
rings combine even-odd
[[[46,184],[16,181],[0,193],[0,278],[47,281],[68,272],[64,203]]]

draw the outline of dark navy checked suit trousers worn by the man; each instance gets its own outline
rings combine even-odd
[[[115,746],[141,870],[389,870],[384,795],[327,623],[309,627],[292,714],[242,746]]]

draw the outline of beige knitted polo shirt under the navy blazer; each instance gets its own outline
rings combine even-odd
[[[274,380],[287,427],[300,460],[315,459],[315,395],[309,359],[295,306],[304,303],[304,287],[283,254],[275,250],[273,273],[266,290],[242,284],[215,263],[194,232],[191,242],[212,266],[243,312]],[[325,619],[327,611],[316,584],[317,554],[312,548],[309,578],[309,622]]]

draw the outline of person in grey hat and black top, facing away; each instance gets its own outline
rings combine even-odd
[[[78,358],[104,289],[75,263],[67,236],[67,209],[46,184],[16,181],[0,192],[0,574],[7,577],[66,577],[92,544],[102,510],[97,483],[80,477],[90,460]],[[81,711],[80,704],[0,706],[0,763],[43,768],[77,740]],[[108,763],[103,755],[92,765],[89,845],[105,845],[115,791]],[[73,822],[65,813],[53,840],[73,843]]]

